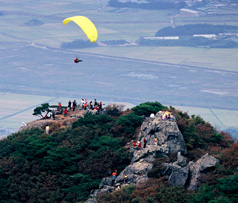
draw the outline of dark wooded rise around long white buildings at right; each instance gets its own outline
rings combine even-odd
[[[237,48],[237,26],[188,24],[158,30],[155,37],[142,37],[138,43],[147,46],[191,46]]]

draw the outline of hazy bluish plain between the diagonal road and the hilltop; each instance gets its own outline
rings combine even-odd
[[[41,103],[66,105],[81,98],[133,105],[159,101],[201,115],[220,129],[237,127],[235,71],[89,53],[74,64],[72,51],[27,43],[6,43],[6,49],[0,45],[0,128],[18,128],[22,121],[36,119],[32,112]]]

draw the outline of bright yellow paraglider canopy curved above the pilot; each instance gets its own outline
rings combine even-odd
[[[89,20],[85,16],[73,16],[70,18],[64,19],[63,23],[65,25],[68,24],[68,22],[73,21],[75,22],[81,29],[84,31],[84,33],[87,35],[88,39],[93,43],[97,41],[98,38],[98,32],[95,27],[95,25],[92,23],[91,20]]]

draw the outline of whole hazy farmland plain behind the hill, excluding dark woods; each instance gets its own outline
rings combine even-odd
[[[171,17],[176,25],[238,26],[236,16],[187,18],[175,10],[116,9],[107,2],[0,2],[0,129],[35,119],[32,111],[43,102],[81,97],[133,105],[159,101],[204,116],[221,129],[238,127],[238,49],[137,45],[140,37],[170,26]],[[63,25],[74,15],[95,23],[98,47],[61,48],[63,42],[87,40],[74,23]],[[30,25],[32,20],[42,25]],[[107,40],[131,45],[105,46]],[[76,54],[83,63],[73,64]]]

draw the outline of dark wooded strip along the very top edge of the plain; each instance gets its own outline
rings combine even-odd
[[[137,3],[135,1],[121,2],[119,0],[109,0],[108,5],[116,8],[141,8],[141,9],[180,9],[186,6],[184,1],[164,1],[148,0],[146,3]]]

